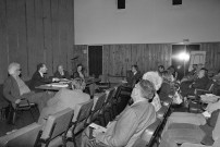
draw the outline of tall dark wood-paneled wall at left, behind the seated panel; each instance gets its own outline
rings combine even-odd
[[[52,75],[58,64],[71,71],[74,0],[0,0],[0,83],[8,64],[20,62],[24,78],[45,62]]]

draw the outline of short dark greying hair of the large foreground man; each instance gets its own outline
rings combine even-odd
[[[156,89],[151,82],[149,82],[148,79],[142,79],[138,84],[143,98],[151,99],[155,96]]]

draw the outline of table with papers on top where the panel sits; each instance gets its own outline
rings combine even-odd
[[[100,82],[100,78],[88,78],[85,79],[86,86],[91,85],[94,83]],[[68,86],[69,87],[69,86]],[[45,84],[45,85],[40,85],[37,86],[37,89],[41,89],[41,90],[53,90],[53,91],[58,91],[61,88],[68,88],[68,87],[61,87],[61,86],[53,86],[52,84]]]

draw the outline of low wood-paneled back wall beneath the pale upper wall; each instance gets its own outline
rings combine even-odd
[[[87,65],[86,45],[74,47],[80,56],[76,63]],[[211,71],[220,70],[220,42],[203,42],[200,50],[206,51],[206,68]],[[157,70],[162,64],[171,65],[172,45],[171,44],[130,44],[130,45],[103,45],[102,52],[102,73],[110,75],[126,75],[126,70],[132,64],[137,64],[140,72]],[[84,61],[83,61],[84,60]]]

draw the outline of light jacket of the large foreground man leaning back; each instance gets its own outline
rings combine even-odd
[[[156,120],[151,103],[139,101],[127,107],[96,139],[111,147],[132,147],[147,126]]]

